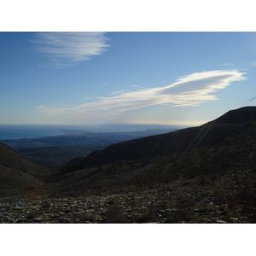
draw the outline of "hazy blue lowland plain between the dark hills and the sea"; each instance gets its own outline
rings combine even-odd
[[[119,143],[151,135],[175,131],[177,128],[149,129],[145,131],[63,131],[65,135],[50,137],[25,137],[0,140],[28,159],[49,166],[67,163],[78,156]]]

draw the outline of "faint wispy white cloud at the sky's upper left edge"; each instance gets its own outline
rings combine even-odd
[[[49,56],[52,67],[71,67],[88,61],[93,55],[102,55],[109,45],[105,32],[37,32],[32,44]],[[47,67],[48,64],[39,64]]]

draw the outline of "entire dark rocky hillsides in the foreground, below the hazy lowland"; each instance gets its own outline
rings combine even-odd
[[[59,165],[0,143],[0,221],[255,223],[255,136],[256,108],[246,107],[205,125],[102,144]]]

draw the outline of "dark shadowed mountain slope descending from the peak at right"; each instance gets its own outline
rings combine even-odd
[[[82,160],[67,163],[61,172],[108,165],[119,160],[139,160],[150,156],[169,155],[173,152],[189,151],[192,148],[220,143],[226,138],[249,133],[249,130],[255,126],[253,123],[255,119],[256,107],[239,108],[205,125],[113,144],[93,152]]]

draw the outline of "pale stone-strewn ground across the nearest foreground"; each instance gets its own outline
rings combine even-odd
[[[241,218],[218,201],[214,189],[183,181],[115,195],[5,196],[0,198],[0,223],[240,223]]]

